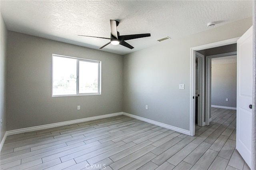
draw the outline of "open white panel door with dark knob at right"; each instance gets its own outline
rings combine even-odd
[[[236,149],[251,167],[252,27],[237,41]]]

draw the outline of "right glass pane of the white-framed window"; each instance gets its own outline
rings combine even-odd
[[[98,93],[99,64],[79,61],[79,93]]]

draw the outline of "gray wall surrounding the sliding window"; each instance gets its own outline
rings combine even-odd
[[[53,53],[102,61],[102,95],[52,97]],[[10,31],[7,54],[7,130],[123,111],[122,55]]]

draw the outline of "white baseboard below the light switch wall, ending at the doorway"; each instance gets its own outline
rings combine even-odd
[[[178,128],[178,127],[173,127],[173,126],[170,126],[170,125],[166,125],[164,123],[160,123],[160,122],[157,122],[157,121],[152,121],[150,119],[146,119],[146,118],[143,118],[143,117],[139,117],[139,116],[136,116],[136,115],[132,115],[132,114],[129,114],[129,113],[124,113],[123,112],[123,115],[125,116],[128,116],[128,117],[132,117],[134,119],[138,119],[140,121],[144,121],[144,122],[147,122],[147,123],[151,123],[153,125],[157,125],[157,126],[160,126],[160,127],[164,127],[164,128],[168,128],[170,130],[174,130],[176,132],[180,132],[180,133],[184,133],[184,134],[187,134],[187,135],[190,135],[190,131],[189,130],[184,130],[182,128]]]

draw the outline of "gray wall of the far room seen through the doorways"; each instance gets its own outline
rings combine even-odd
[[[212,105],[236,107],[236,63],[212,65]]]

